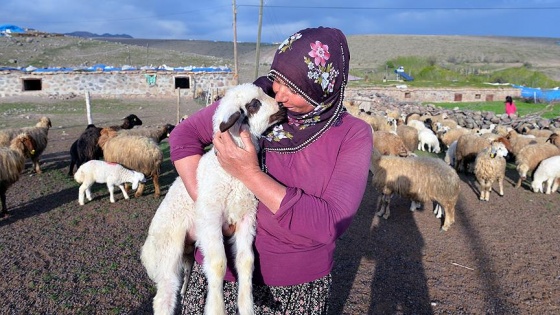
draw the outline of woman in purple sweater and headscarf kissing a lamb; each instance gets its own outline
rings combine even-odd
[[[194,200],[196,167],[210,142],[222,167],[259,200],[253,276],[257,314],[326,314],[335,241],[358,210],[373,147],[371,127],[342,105],[349,59],[338,29],[305,29],[280,45],[268,78],[255,84],[287,109],[287,120],[263,135],[261,152],[248,139],[247,148],[240,149],[229,133],[212,135],[217,103],[179,124],[169,138],[171,159]],[[204,310],[202,260],[197,252],[183,296],[184,314]],[[234,281],[228,269],[229,314],[236,312]]]

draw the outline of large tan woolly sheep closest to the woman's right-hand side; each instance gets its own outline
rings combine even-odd
[[[378,199],[378,216],[387,219],[393,193],[410,198],[412,206],[417,203],[436,202],[434,212],[443,207],[445,215],[441,230],[447,231],[455,222],[455,205],[459,199],[460,179],[452,167],[435,157],[382,156],[373,150],[370,171],[372,186],[382,195]]]

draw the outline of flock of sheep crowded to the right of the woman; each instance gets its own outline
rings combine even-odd
[[[488,201],[494,182],[498,182],[498,194],[504,195],[507,162],[515,163],[517,188],[529,174],[534,192],[550,194],[560,185],[560,130],[531,126],[516,130],[496,124],[469,129],[445,113],[372,112],[352,102],[346,108],[374,130],[370,170],[372,185],[381,193],[377,215],[385,219],[390,214],[391,196],[397,194],[412,201],[412,211],[434,203],[436,216],[444,216],[441,228],[447,230],[455,217],[458,174],[474,174],[479,199]],[[416,150],[434,155],[419,157]],[[440,152],[445,152],[443,159],[437,156]]]

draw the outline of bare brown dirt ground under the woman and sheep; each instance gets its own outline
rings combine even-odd
[[[145,126],[176,122],[175,104],[131,105],[101,126],[134,113]],[[192,113],[200,105],[193,104]],[[133,112],[131,112],[133,111]],[[6,113],[34,125],[40,113]],[[78,185],[67,176],[71,143],[83,121],[53,115],[43,174],[30,172],[7,194],[10,215],[0,219],[0,313],[150,314],[155,287],[139,253],[161,199],[153,186],[140,198],[109,202],[105,186],[79,206]],[[73,116],[74,117],[74,116]],[[176,177],[162,143],[162,193]],[[394,197],[388,220],[375,216],[378,193],[368,186],[349,230],[338,240],[330,314],[559,314],[560,194],[515,189],[507,172],[505,196],[479,201],[478,184],[461,175],[456,223],[440,232],[431,211],[410,212]],[[290,270],[287,268],[286,273]]]

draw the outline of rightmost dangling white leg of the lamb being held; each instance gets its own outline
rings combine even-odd
[[[246,214],[237,223],[235,231],[235,268],[239,280],[237,307],[240,315],[252,315],[253,294],[252,275],[254,269],[254,254],[252,249],[255,229],[255,218]]]

